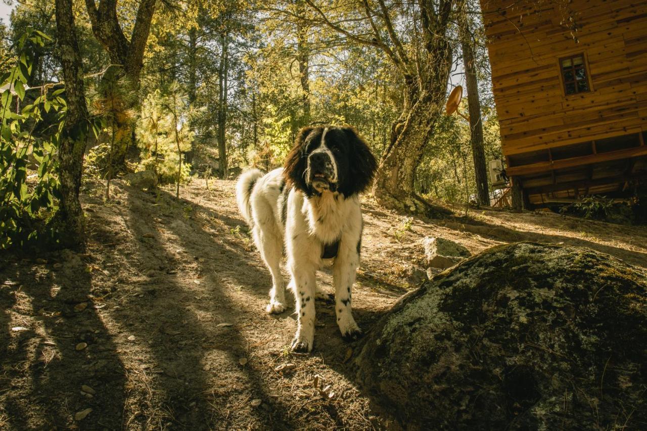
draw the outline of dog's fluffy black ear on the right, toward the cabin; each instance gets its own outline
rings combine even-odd
[[[349,174],[340,187],[340,192],[346,196],[361,193],[373,182],[377,169],[377,161],[366,142],[359,137],[357,131],[350,126],[342,127],[349,143]]]

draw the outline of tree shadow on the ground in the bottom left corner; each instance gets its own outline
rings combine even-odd
[[[89,265],[70,250],[38,256],[48,263],[16,259],[0,269],[0,280],[12,282],[0,294],[7,388],[0,404],[8,428],[71,428],[78,422],[74,414],[88,408],[92,412],[78,422],[83,428],[121,428],[124,367],[94,307]],[[16,321],[27,330],[11,331]],[[87,347],[77,349],[79,343]],[[82,385],[94,393],[84,395]]]

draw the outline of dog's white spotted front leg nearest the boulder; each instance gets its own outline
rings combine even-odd
[[[339,254],[333,264],[334,311],[342,337],[347,341],[362,337],[362,330],[355,323],[351,306],[353,283],[360,260],[356,242],[350,238],[344,241],[342,238]]]

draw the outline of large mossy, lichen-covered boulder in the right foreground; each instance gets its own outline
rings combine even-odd
[[[646,348],[646,272],[515,243],[404,296],[353,367],[389,428],[638,430]]]

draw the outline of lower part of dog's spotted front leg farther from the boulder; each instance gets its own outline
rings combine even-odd
[[[290,286],[294,291],[297,327],[291,349],[295,352],[309,353],[313,349],[315,274],[314,268],[292,270]]]

